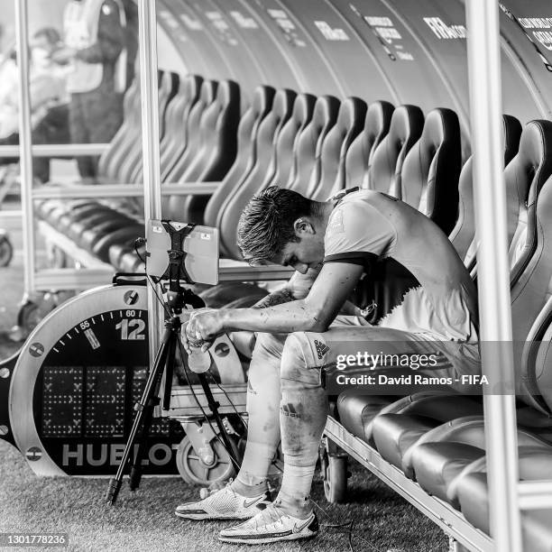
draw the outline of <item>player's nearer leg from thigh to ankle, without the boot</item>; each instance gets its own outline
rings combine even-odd
[[[416,351],[418,342],[391,328],[334,327],[324,334],[298,332],[288,337],[281,363],[284,475],[278,499],[284,511],[299,518],[307,518],[312,511],[310,486],[327,419],[322,368],[335,366],[341,355]]]

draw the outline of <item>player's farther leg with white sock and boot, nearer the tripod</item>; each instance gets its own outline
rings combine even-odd
[[[266,506],[267,474],[280,443],[280,364],[286,336],[259,334],[249,368],[249,422],[244,460],[235,481],[203,501],[180,505],[193,520],[247,519]]]

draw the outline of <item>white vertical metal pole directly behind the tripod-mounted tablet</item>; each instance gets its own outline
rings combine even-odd
[[[139,48],[142,96],[143,198],[146,225],[161,219],[161,162],[157,92],[157,30],[155,0],[140,0]],[[161,305],[148,286],[150,363],[153,365],[161,334]]]

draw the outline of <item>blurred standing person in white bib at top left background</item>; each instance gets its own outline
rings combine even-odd
[[[52,59],[67,65],[72,143],[108,143],[123,122],[126,16],[120,0],[71,0],[64,47]],[[97,157],[79,157],[85,183],[97,183]]]

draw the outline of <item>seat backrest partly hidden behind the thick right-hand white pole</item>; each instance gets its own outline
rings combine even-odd
[[[520,148],[521,124],[511,115],[502,115],[504,130],[504,165],[507,165]],[[472,158],[469,157],[460,172],[458,182],[458,218],[448,239],[455,246],[461,259],[466,253],[475,235],[474,187]],[[468,267],[471,268],[471,267]]]

